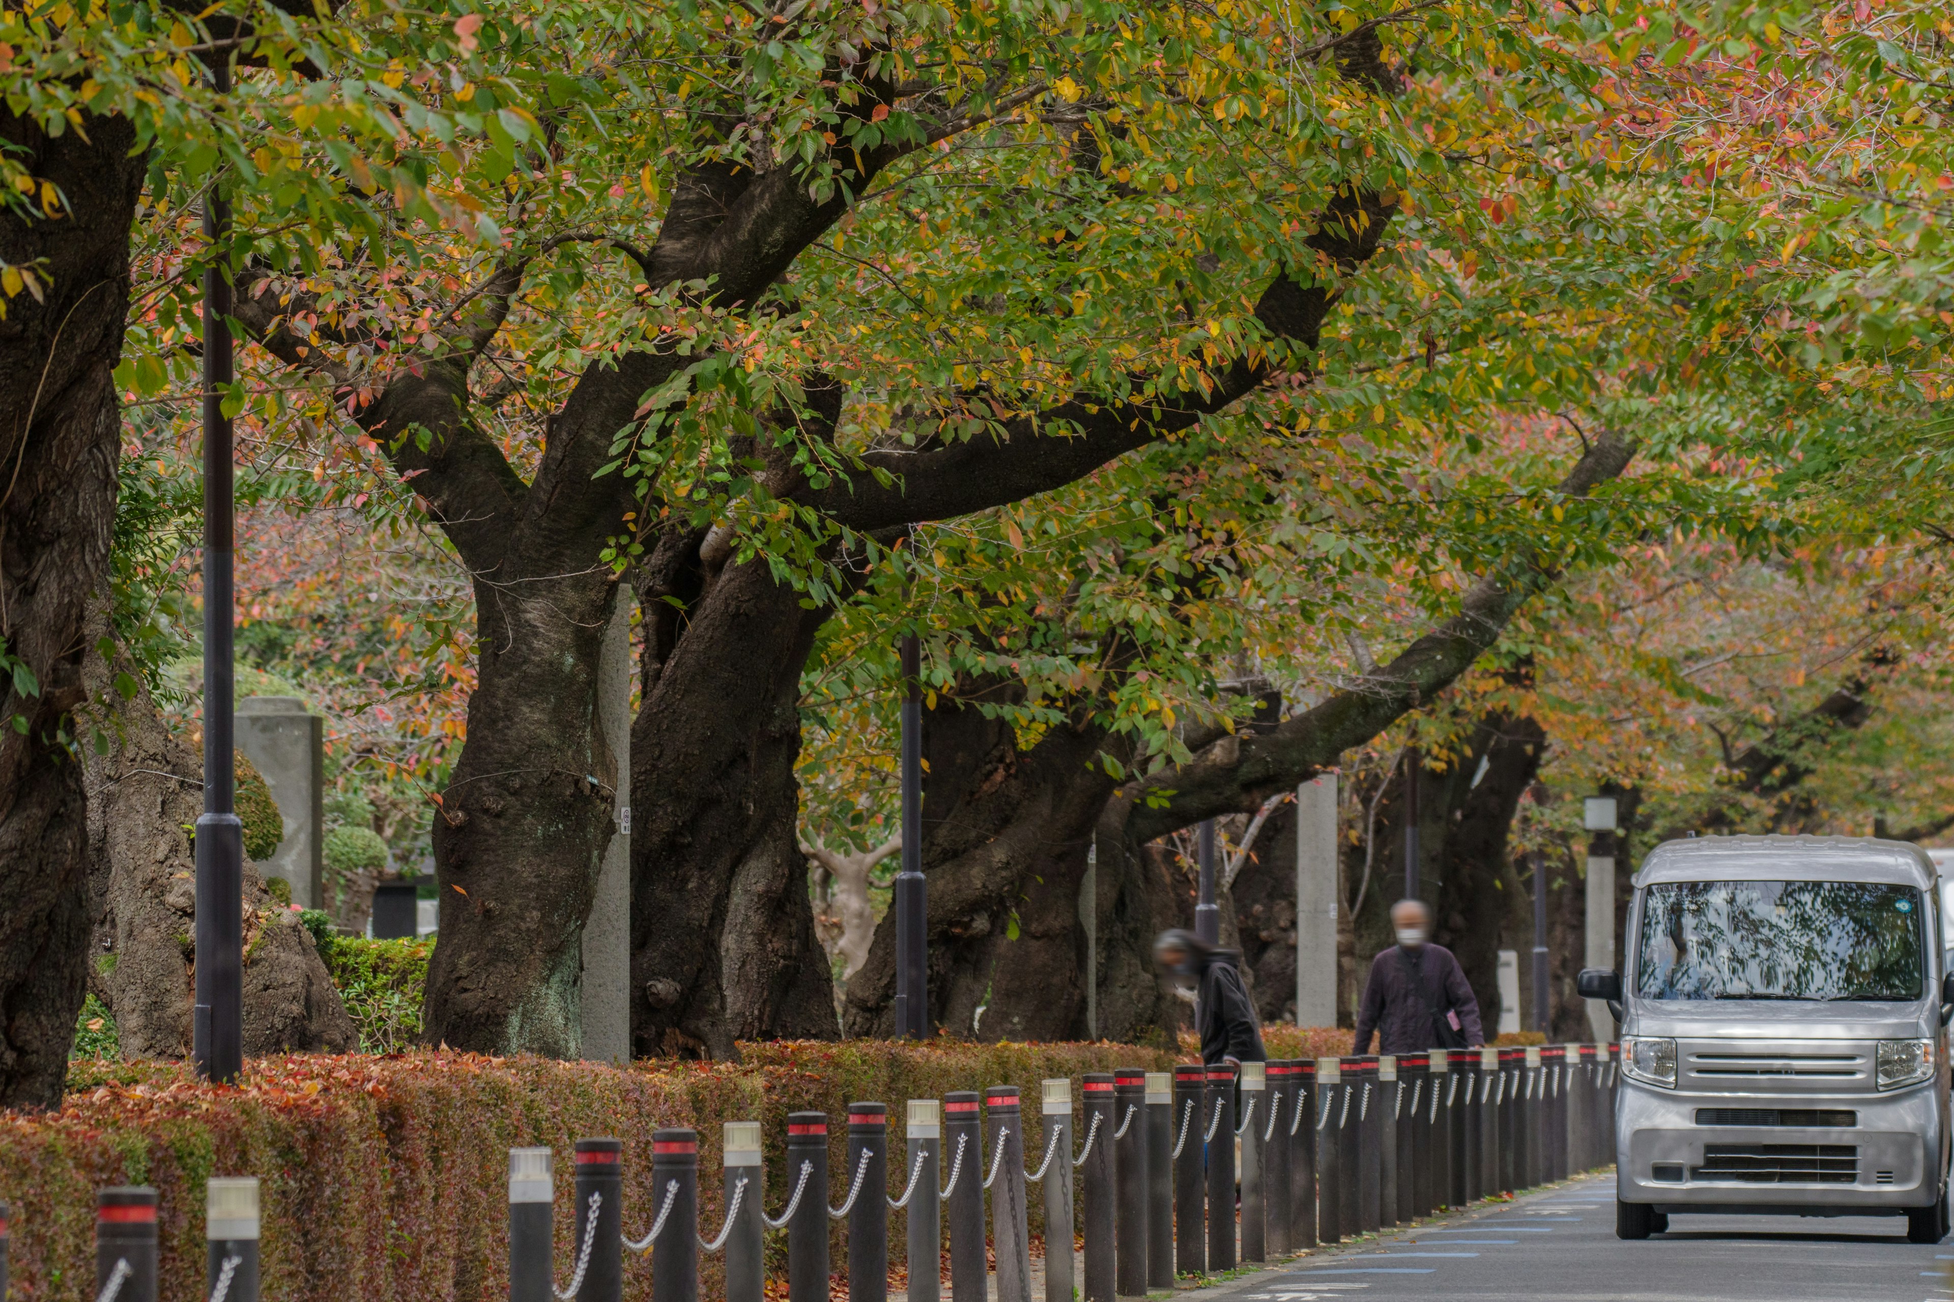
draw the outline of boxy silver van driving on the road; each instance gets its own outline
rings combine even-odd
[[[1854,837],[1702,837],[1634,878],[1616,1234],[1684,1212],[1905,1216],[1948,1234],[1946,972],[1934,863]]]

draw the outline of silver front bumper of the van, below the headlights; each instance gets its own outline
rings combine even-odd
[[[1673,1210],[1878,1214],[1929,1206],[1940,1195],[1940,1089],[1938,1081],[1923,1081],[1878,1095],[1739,1097],[1678,1093],[1624,1078],[1616,1097],[1616,1197]],[[1835,1109],[1856,1113],[1858,1124],[1696,1124],[1698,1109]],[[1753,1169],[1737,1177],[1733,1165]],[[1811,1165],[1825,1173],[1807,1175]]]

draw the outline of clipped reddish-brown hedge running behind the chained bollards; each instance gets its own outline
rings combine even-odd
[[[496,1302],[508,1296],[508,1150],[557,1150],[557,1261],[571,1257],[576,1138],[625,1140],[625,1230],[643,1234],[651,1132],[700,1132],[700,1222],[719,1199],[721,1122],[764,1122],[768,1208],[786,1191],[789,1111],[836,1120],[850,1101],[903,1101],[1018,1085],[1038,1113],[1047,1076],[1161,1070],[1172,1056],[1126,1044],[750,1044],[741,1064],[596,1064],[453,1052],[260,1058],[238,1087],[199,1085],[178,1064],[82,1066],[59,1113],[0,1113],[0,1202],[12,1208],[16,1302],[94,1296],[94,1191],[156,1185],[162,1302],[203,1296],[203,1181],[256,1175],[264,1195],[264,1296],[279,1302]],[[846,1193],[832,1126],[830,1202]],[[889,1161],[891,1195],[907,1167]],[[1040,1199],[1032,1199],[1034,1220]],[[1034,1232],[1041,1226],[1034,1224]],[[770,1240],[780,1236],[770,1236]],[[780,1249],[780,1243],[772,1245]],[[891,1234],[901,1261],[903,1234]],[[836,1269],[844,1243],[836,1241]],[[563,1271],[567,1275],[567,1267]],[[651,1261],[627,1255],[625,1296],[651,1296]],[[707,1292],[707,1296],[711,1296]]]

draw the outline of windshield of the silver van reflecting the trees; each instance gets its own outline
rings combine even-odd
[[[1921,892],[1886,882],[1661,882],[1643,999],[1919,999]]]

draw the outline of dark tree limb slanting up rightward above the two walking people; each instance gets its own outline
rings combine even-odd
[[[1602,433],[1559,492],[1583,498],[1628,468],[1635,445]],[[1133,785],[1127,834],[1151,841],[1217,814],[1251,812],[1262,800],[1309,781],[1337,757],[1391,726],[1458,679],[1499,640],[1520,607],[1551,586],[1561,570],[1553,556],[1516,556],[1503,572],[1479,580],[1444,621],[1395,660],[1366,673],[1354,687],[1292,716],[1274,732],[1243,736],[1235,759],[1196,761]]]

